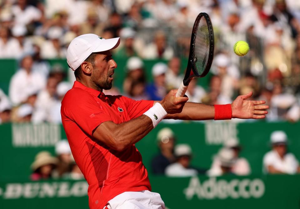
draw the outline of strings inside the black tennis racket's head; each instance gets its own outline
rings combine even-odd
[[[210,51],[210,33],[204,17],[199,20],[193,42],[192,68],[194,73],[200,76],[207,66]]]

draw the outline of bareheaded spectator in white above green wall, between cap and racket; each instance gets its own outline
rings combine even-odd
[[[171,59],[173,55],[174,51],[167,45],[163,31],[156,32],[153,42],[147,45],[142,52],[142,57],[145,59]]]

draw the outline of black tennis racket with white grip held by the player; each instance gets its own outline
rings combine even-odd
[[[187,86],[193,78],[206,76],[212,65],[213,49],[212,22],[207,13],[201,12],[198,14],[193,26],[187,71],[176,97],[184,96]]]

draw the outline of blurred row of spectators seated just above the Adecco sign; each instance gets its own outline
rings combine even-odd
[[[157,135],[159,153],[152,159],[152,172],[169,177],[190,177],[205,174],[210,177],[222,175],[246,176],[251,174],[251,165],[241,157],[242,146],[237,139],[227,139],[223,147],[212,157],[209,169],[192,166],[192,148],[188,144],[176,144],[176,135],[170,128],[163,128]],[[300,173],[299,161],[288,151],[288,137],[283,131],[274,131],[270,136],[271,150],[263,156],[264,174]]]

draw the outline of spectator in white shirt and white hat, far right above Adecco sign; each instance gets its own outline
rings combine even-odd
[[[300,172],[296,157],[287,152],[287,135],[283,131],[271,134],[272,150],[263,157],[263,170],[269,174],[295,174]]]

